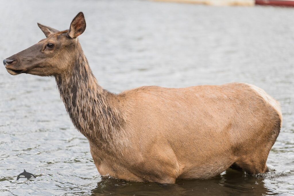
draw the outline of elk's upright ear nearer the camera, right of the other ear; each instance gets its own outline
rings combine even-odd
[[[69,32],[67,33],[70,38],[74,39],[81,35],[86,29],[86,21],[83,12],[78,13],[71,21]]]

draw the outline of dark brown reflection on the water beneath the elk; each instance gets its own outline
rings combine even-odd
[[[93,195],[236,195],[235,189],[238,195],[276,195],[264,186],[263,178],[231,169],[210,180],[177,180],[164,185],[102,178]]]

